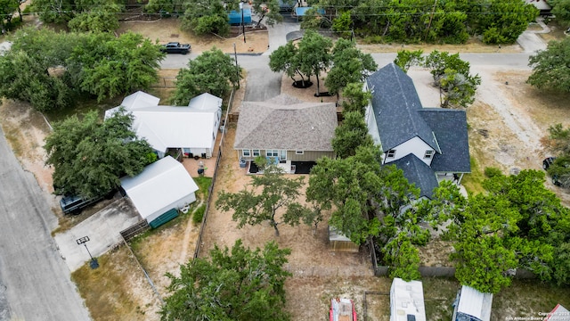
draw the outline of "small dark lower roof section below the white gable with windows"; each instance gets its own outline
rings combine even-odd
[[[387,165],[392,164],[395,164],[398,169],[402,169],[403,177],[406,177],[408,182],[419,188],[419,196],[426,196],[431,199],[434,188],[439,185],[433,169],[412,153],[397,161],[387,163]]]

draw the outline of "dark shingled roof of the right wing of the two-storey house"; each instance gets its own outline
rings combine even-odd
[[[441,153],[431,168],[436,172],[470,173],[467,115],[465,111],[424,108],[419,114],[433,128]]]

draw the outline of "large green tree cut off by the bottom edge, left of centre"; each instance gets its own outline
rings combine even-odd
[[[274,242],[250,250],[236,241],[232,250],[217,245],[210,259],[194,259],[180,267],[180,276],[167,273],[172,294],[160,319],[220,321],[286,321],[283,269],[289,249]]]

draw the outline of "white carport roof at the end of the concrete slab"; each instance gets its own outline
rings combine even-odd
[[[198,191],[188,171],[170,156],[152,163],[135,177],[121,178],[121,185],[149,224],[169,210],[180,210],[195,202]]]

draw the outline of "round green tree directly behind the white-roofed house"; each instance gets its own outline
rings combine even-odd
[[[223,97],[230,91],[230,85],[240,80],[234,62],[232,57],[216,47],[189,61],[188,68],[180,70],[176,76],[173,103],[186,104],[202,93]]]

